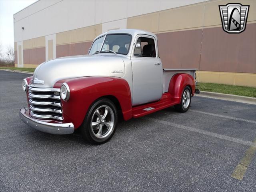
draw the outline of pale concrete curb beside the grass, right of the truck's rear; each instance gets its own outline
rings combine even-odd
[[[230,95],[230,94],[224,94],[224,93],[214,93],[214,92],[208,92],[208,91],[200,91],[200,94],[195,94],[195,96],[256,105],[256,98],[254,97],[245,97],[245,96]]]

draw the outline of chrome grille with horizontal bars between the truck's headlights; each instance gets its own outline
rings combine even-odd
[[[62,121],[60,89],[28,88],[30,115],[39,119],[55,119]]]

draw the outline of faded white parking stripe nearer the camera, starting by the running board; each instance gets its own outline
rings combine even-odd
[[[159,120],[159,119],[155,119],[155,118],[150,118],[150,117],[145,117],[145,118],[148,119],[148,120],[152,120],[154,122],[161,123],[161,124],[173,126],[175,128],[180,128],[180,129],[184,129],[184,130],[188,130],[188,131],[192,131],[192,132],[212,136],[212,137],[215,137],[215,138],[219,138],[219,139],[239,143],[239,144],[242,144],[242,145],[256,147],[256,143],[253,143],[251,141],[245,141],[245,140],[242,140],[242,139],[239,139],[239,138],[234,138],[234,137],[230,137],[230,136],[226,136],[226,135],[222,135],[222,134],[218,134],[218,133],[214,133],[214,132],[200,130],[200,129],[196,129],[196,128],[193,128],[193,127],[184,126],[184,125],[180,125],[180,124],[176,124],[176,123],[172,123],[172,122],[168,122],[168,121],[163,121],[163,120]]]

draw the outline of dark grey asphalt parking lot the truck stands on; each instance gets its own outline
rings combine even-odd
[[[0,191],[256,191],[255,105],[195,96],[93,146],[20,120],[27,76],[0,71]]]

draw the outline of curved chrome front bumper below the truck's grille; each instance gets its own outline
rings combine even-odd
[[[43,122],[29,116],[27,108],[20,109],[20,118],[28,126],[35,128],[38,131],[50,134],[71,134],[74,132],[74,125],[72,123],[48,123]]]

